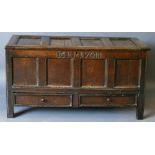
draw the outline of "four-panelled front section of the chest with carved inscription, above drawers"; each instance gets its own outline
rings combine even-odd
[[[139,88],[141,59],[128,52],[25,51],[14,55],[14,86]],[[26,54],[29,56],[26,57]],[[18,54],[20,54],[18,52]]]

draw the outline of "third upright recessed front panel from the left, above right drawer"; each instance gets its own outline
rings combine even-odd
[[[82,60],[82,86],[104,87],[105,60]]]

